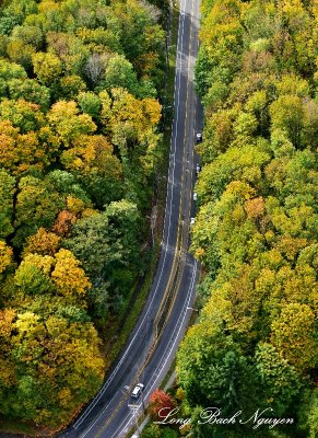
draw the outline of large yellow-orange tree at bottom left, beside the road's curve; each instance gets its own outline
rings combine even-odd
[[[86,403],[102,382],[97,333],[91,323],[57,316],[42,321],[32,312],[17,315],[14,331],[11,345],[19,379],[1,411],[8,418],[54,427],[79,403]]]

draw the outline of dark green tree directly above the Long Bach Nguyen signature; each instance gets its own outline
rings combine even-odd
[[[255,412],[254,367],[231,336],[211,321],[189,331],[177,354],[177,374],[191,406],[222,407],[224,415]]]

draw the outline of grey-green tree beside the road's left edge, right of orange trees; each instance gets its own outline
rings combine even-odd
[[[136,205],[111,203],[105,212],[79,220],[66,241],[93,281],[89,300],[96,316],[105,318],[109,306],[120,306],[138,272],[138,217]]]

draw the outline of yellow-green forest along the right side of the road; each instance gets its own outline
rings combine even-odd
[[[143,438],[318,436],[317,12],[310,0],[202,1],[201,311],[177,390],[154,403],[178,405],[191,425],[152,425]],[[200,424],[212,406],[293,424]]]

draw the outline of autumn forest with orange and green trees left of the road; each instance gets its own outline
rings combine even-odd
[[[160,5],[2,2],[0,423],[49,435],[103,382],[105,327],[148,260],[163,155]]]

